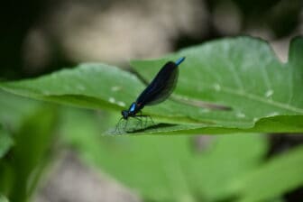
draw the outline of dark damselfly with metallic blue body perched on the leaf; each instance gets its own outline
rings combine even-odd
[[[127,120],[129,117],[142,116],[137,114],[142,114],[141,110],[144,106],[156,105],[166,100],[176,87],[179,75],[178,66],[183,60],[185,60],[185,57],[176,62],[167,62],[129,109],[121,112],[122,118]]]

